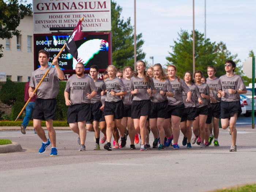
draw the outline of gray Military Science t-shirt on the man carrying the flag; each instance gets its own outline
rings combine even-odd
[[[38,68],[37,70],[33,71],[31,74],[31,79],[29,86],[30,87],[37,87],[38,83],[45,75],[48,68],[41,70]],[[55,99],[59,93],[59,77],[57,71],[54,67],[50,68],[50,71],[45,76],[43,82],[37,89],[37,98],[38,99]]]

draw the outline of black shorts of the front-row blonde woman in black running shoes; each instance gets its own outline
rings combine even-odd
[[[124,113],[124,102],[123,100],[117,102],[107,102],[105,101],[104,115],[114,115],[114,119],[123,118]]]

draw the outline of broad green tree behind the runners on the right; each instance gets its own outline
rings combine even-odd
[[[193,31],[191,34],[188,31],[182,30],[178,33],[177,41],[170,46],[172,52],[166,59],[169,64],[176,65],[177,75],[183,77],[186,71],[193,71]],[[232,55],[227,50],[226,44],[222,41],[217,45],[211,42],[209,38],[204,41],[204,34],[195,30],[195,70],[201,70],[204,76],[207,75],[207,67],[214,65],[217,69],[216,76],[225,74],[224,64],[226,60],[233,60],[238,63],[237,54]],[[241,72],[240,68],[236,68],[237,72]]]

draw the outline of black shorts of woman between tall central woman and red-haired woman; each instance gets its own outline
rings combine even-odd
[[[151,102],[151,111],[149,118],[166,118],[168,110],[168,101],[164,102]]]

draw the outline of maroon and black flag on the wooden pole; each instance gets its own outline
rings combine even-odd
[[[72,35],[68,38],[68,41],[66,43],[66,47],[68,52],[77,60],[78,58],[78,51],[76,47],[75,41],[78,41],[80,39],[83,39],[87,37],[87,33],[82,32],[82,21],[79,20],[76,28],[74,29]]]

